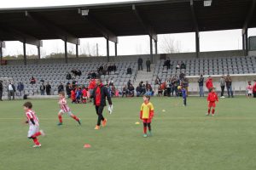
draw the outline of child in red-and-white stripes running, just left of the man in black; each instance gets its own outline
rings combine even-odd
[[[58,113],[58,117],[59,117],[59,123],[58,126],[62,125],[62,115],[64,113],[67,113],[68,116],[71,116],[74,120],[76,120],[77,122],[79,122],[79,125],[81,125],[80,119],[77,116],[74,116],[73,113],[71,112],[71,110],[69,109],[68,105],[67,105],[67,100],[65,99],[65,93],[64,92],[60,92],[59,93],[59,105],[61,107],[61,111],[59,111]]]

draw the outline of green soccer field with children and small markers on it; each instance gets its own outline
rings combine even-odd
[[[90,103],[71,105],[82,126],[67,115],[57,127],[57,99],[32,100],[45,137],[32,148],[23,124],[24,100],[0,103],[1,170],[252,170],[256,168],[255,99],[220,99],[215,116],[205,116],[207,100],[151,99],[155,116],[153,136],[143,138],[139,120],[142,98],[113,99],[112,115],[105,108],[106,127],[94,130],[96,111]],[[166,110],[163,112],[162,110]],[[84,148],[90,144],[91,148]]]

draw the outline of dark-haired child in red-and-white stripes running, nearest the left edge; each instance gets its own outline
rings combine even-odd
[[[32,111],[32,103],[26,102],[23,105],[23,109],[26,112],[26,123],[29,124],[29,130],[27,133],[28,139],[33,139],[33,142],[35,145],[33,145],[33,148],[41,147],[41,144],[38,141],[38,136],[42,135],[44,136],[45,133],[43,130],[39,130],[39,121],[38,116],[36,115],[35,111]]]

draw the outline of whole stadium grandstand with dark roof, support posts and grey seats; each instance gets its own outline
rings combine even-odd
[[[102,75],[102,79],[113,79],[119,91],[131,80],[135,87],[139,82],[148,81],[157,92],[158,85],[154,84],[156,77],[167,81],[181,73],[189,79],[191,94],[198,94],[197,79],[200,74],[212,76],[219,91],[219,78],[230,74],[235,93],[245,94],[247,81],[256,77],[256,47],[253,47],[256,43],[251,43],[247,37],[248,28],[256,27],[255,3],[255,0],[150,0],[0,9],[0,77],[5,80],[3,95],[7,96],[6,88],[10,80],[15,84],[23,82],[24,93],[28,95],[38,95],[40,80],[44,80],[51,83],[51,94],[57,94],[60,82],[70,82],[66,75],[73,68],[83,73],[81,77],[75,77],[75,80],[88,86],[88,74],[91,71],[96,72],[100,65],[111,64],[116,65],[116,71]],[[200,31],[230,29],[242,29],[242,50],[200,52]],[[158,34],[182,32],[195,32],[195,53],[158,54]],[[136,35],[150,37],[150,54],[117,56],[118,37]],[[88,37],[106,38],[106,57],[79,58],[79,38]],[[65,42],[63,59],[41,59],[40,47],[43,46],[42,40],[46,39],[61,39]],[[5,60],[2,48],[6,41],[23,42],[24,59]],[[109,41],[115,43],[115,56],[109,56]],[[67,42],[76,45],[77,58],[68,58]],[[26,59],[26,43],[38,47],[38,59]],[[151,72],[137,71],[137,59],[140,57],[144,61],[151,60]],[[164,65],[166,59],[171,60],[170,69]],[[186,67],[177,69],[176,65],[182,62]],[[131,68],[131,74],[127,74],[128,68]],[[35,84],[30,83],[31,77],[37,79]]]

